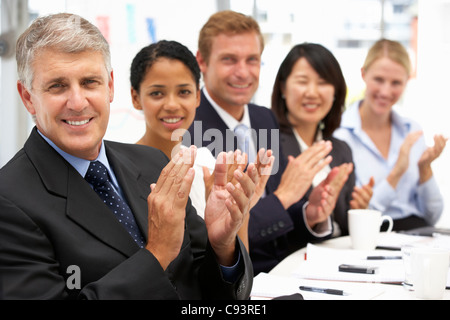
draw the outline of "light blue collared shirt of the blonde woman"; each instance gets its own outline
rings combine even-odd
[[[422,136],[411,148],[410,166],[394,189],[386,180],[394,167],[400,147],[410,132],[422,130],[415,121],[392,111],[392,135],[388,158],[385,159],[369,136],[361,128],[360,102],[352,104],[343,114],[341,127],[335,137],[348,143],[355,163],[356,185],[361,186],[374,177],[375,186],[370,207],[390,215],[393,219],[416,215],[435,224],[444,203],[434,176],[419,184],[417,163],[427,148]]]

